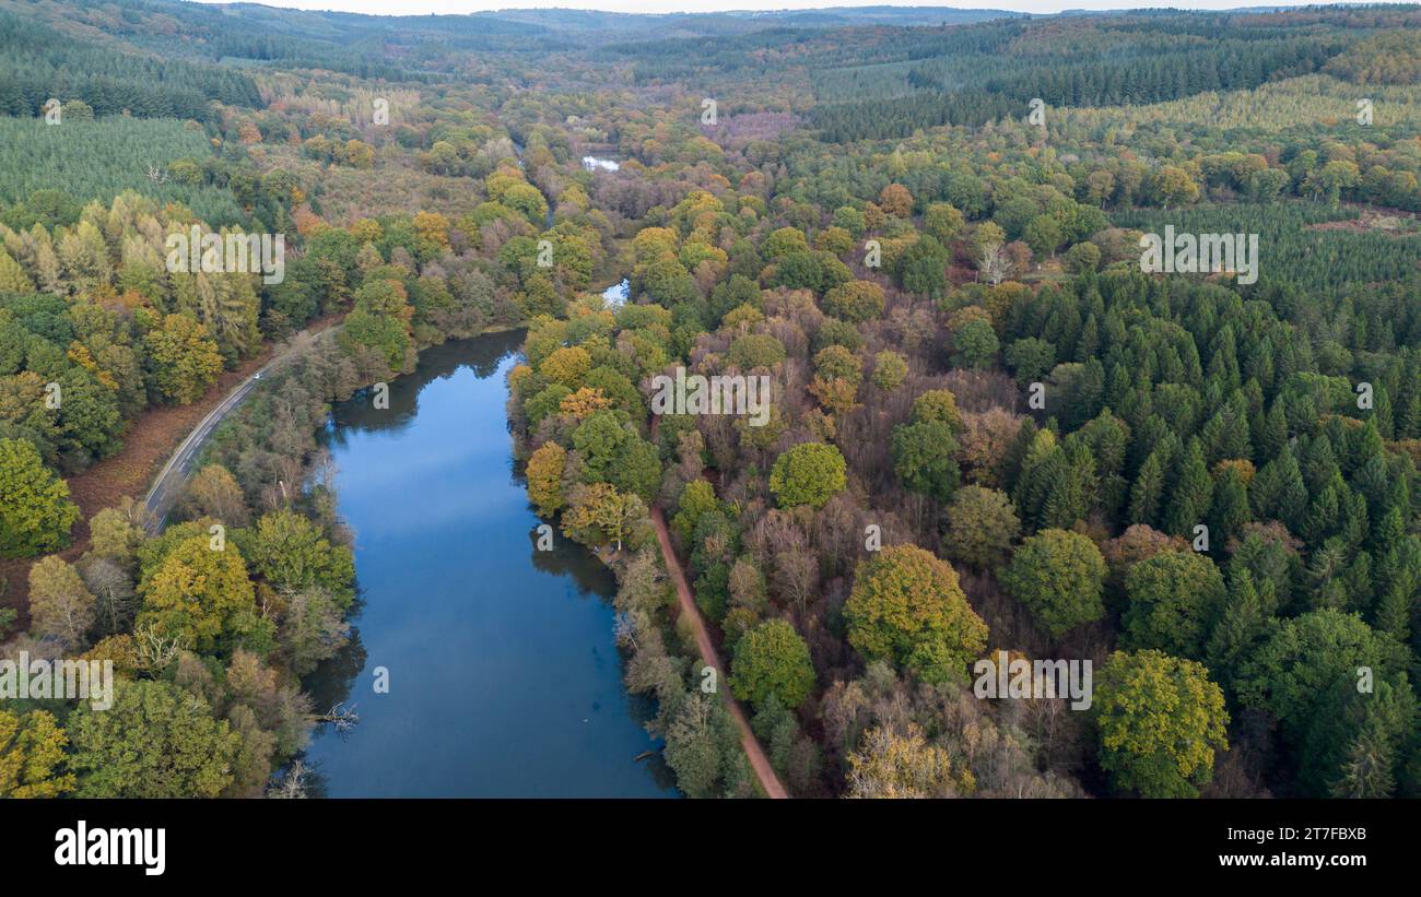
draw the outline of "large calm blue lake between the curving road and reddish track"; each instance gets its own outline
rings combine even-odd
[[[357,639],[306,687],[354,704],[306,762],[327,796],[675,796],[622,687],[612,575],[540,522],[512,453],[506,375],[523,332],[426,349],[333,410],[325,444],[355,532]],[[389,693],[375,674],[388,670]],[[348,697],[347,697],[348,693]]]

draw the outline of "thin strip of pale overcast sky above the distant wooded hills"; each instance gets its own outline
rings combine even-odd
[[[212,1],[212,0],[203,0]],[[814,10],[834,6],[952,6],[958,9],[1013,10],[1019,13],[1059,13],[1061,10],[1120,10],[1174,7],[1185,10],[1226,10],[1246,6],[1304,6],[1303,3],[1262,3],[1250,0],[983,0],[982,3],[892,3],[872,0],[259,0],[266,6],[297,10],[341,10],[375,16],[412,16],[422,13],[475,13],[500,9],[580,9],[615,13],[719,13],[725,10]]]

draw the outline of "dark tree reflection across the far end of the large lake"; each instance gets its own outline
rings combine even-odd
[[[499,363],[522,345],[523,331],[504,331],[429,346],[419,353],[419,366],[414,373],[388,383],[388,409],[375,407],[371,386],[337,403],[331,412],[337,426],[327,430],[328,444],[344,444],[345,433],[351,430],[404,430],[419,413],[419,392],[425,386],[452,376],[460,368],[470,368],[480,380],[490,378],[497,373]]]

